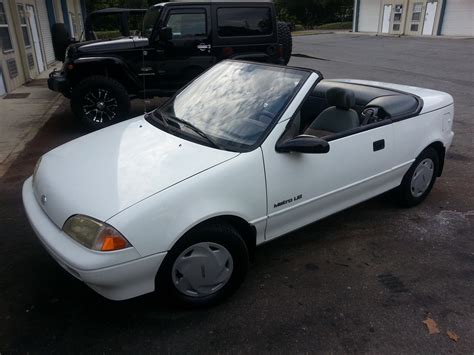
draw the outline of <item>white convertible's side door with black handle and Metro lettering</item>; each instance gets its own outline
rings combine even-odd
[[[328,137],[324,154],[279,153],[280,122],[262,145],[267,181],[266,239],[300,228],[394,187],[391,122]]]

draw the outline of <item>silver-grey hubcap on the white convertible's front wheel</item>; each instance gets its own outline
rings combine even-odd
[[[181,293],[204,297],[224,287],[232,276],[233,268],[232,255],[222,245],[198,243],[178,256],[171,276]]]

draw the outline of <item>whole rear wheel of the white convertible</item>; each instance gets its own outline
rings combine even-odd
[[[394,191],[404,207],[420,204],[430,193],[438,176],[439,155],[434,148],[428,147],[416,158],[403,177],[402,183]]]

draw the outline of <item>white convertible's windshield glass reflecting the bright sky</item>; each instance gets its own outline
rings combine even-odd
[[[265,137],[308,76],[298,69],[225,61],[165,103],[155,117],[186,121],[214,146],[247,151]]]

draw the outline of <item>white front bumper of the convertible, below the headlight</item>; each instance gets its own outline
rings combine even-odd
[[[97,252],[76,243],[46,215],[35,198],[32,178],[23,184],[28,220],[48,253],[66,271],[111,300],[124,300],[155,289],[166,253],[141,257],[134,248]]]

